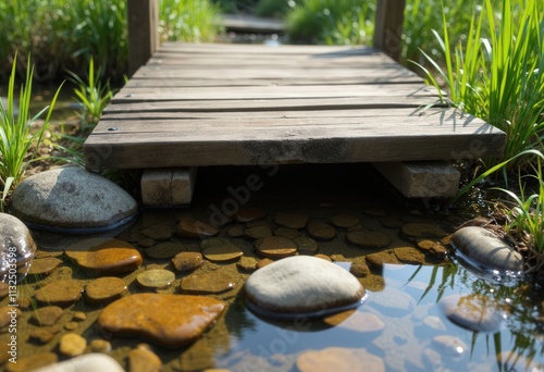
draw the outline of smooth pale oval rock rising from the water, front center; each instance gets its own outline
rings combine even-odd
[[[252,273],[244,288],[248,308],[273,318],[320,317],[356,307],[366,295],[347,270],[311,256],[268,264]]]

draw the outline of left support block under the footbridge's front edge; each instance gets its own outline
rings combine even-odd
[[[147,169],[141,176],[141,201],[145,207],[189,204],[195,188],[196,168]]]

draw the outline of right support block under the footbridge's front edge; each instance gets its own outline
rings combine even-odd
[[[383,162],[372,165],[407,198],[453,197],[460,173],[445,161]]]

